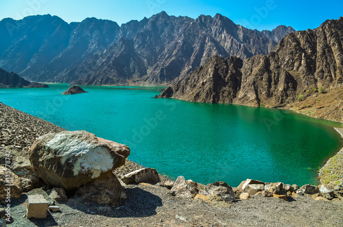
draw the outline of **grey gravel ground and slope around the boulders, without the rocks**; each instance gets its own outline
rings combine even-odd
[[[1,103],[0,126],[1,146],[17,146],[23,155],[27,155],[28,147],[38,136],[63,130]],[[136,163],[127,162],[115,174],[122,176],[139,168]],[[161,178],[167,180],[165,176]],[[199,199],[175,198],[169,195],[169,189],[150,184],[126,185],[124,191],[127,199],[117,207],[69,195],[68,202],[57,204],[60,212],[48,213],[47,219],[27,219],[27,195],[43,194],[49,200],[45,191],[34,189],[21,199],[12,199],[14,222],[8,226],[343,226],[343,200],[327,202],[299,196],[285,202],[254,195],[229,208],[215,208]]]

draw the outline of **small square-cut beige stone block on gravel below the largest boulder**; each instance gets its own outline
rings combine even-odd
[[[27,198],[27,218],[47,218],[47,200],[43,195],[29,195]]]

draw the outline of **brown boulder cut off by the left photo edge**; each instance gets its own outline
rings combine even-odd
[[[23,189],[19,176],[13,174],[10,169],[0,166],[0,200],[21,198],[21,193]]]

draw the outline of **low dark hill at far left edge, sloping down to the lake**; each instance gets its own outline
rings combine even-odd
[[[0,68],[0,88],[46,88],[47,84],[29,82],[16,73],[5,71]]]

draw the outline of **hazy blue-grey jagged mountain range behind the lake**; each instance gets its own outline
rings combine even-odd
[[[0,67],[27,80],[83,85],[169,84],[212,56],[268,54],[291,32],[246,29],[220,14],[130,21],[88,18],[66,23],[58,16],[0,21]]]

